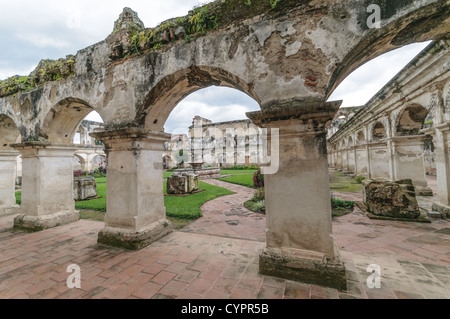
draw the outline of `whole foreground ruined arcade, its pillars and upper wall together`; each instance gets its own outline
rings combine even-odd
[[[269,0],[251,3],[215,1],[208,5],[218,16],[214,29],[191,41],[180,36],[186,33],[182,26],[159,29],[160,46],[128,56],[130,35],[144,27],[126,8],[106,40],[76,54],[73,75],[1,97],[3,211],[14,205],[11,159],[19,153],[23,158],[15,226],[42,230],[79,219],[72,196],[72,141],[81,120],[95,110],[105,129],[93,136],[105,144],[108,160],[107,212],[98,242],[139,249],[168,234],[162,153],[170,135],[164,123],[190,93],[227,86],[259,103],[261,111],[248,114],[254,124],[279,129],[279,167],[265,179],[267,232],[260,272],[345,288],[332,234],[326,151],[326,124],[341,102],[326,101],[364,62],[409,43],[447,37],[449,4],[286,0],[273,8]],[[382,9],[380,28],[367,25],[372,3]],[[381,132],[378,126],[375,131]],[[444,133],[435,127],[435,134],[439,139]]]

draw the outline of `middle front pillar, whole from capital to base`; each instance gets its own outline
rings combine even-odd
[[[91,136],[106,145],[108,156],[105,228],[98,243],[138,250],[170,233],[162,167],[170,135],[124,128]]]

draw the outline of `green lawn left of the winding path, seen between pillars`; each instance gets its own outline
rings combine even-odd
[[[106,212],[106,177],[96,178],[97,196],[101,198],[81,201],[75,203],[75,209],[81,212],[82,219],[104,221]],[[200,218],[202,212],[200,207],[214,198],[231,195],[232,191],[223,187],[210,185],[204,182],[199,183],[200,189],[205,191],[192,194],[186,197],[165,196],[164,205],[166,207],[167,218],[172,222],[174,228],[184,227],[189,222]],[[166,182],[164,181],[164,194],[166,194]],[[16,192],[16,202],[21,203],[21,192]]]

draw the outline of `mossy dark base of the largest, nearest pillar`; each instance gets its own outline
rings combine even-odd
[[[345,267],[340,257],[330,260],[319,252],[266,249],[259,256],[259,271],[262,275],[347,290]]]

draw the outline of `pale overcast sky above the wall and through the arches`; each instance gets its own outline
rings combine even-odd
[[[0,0],[0,79],[28,75],[41,59],[76,54],[104,40],[124,7],[135,10],[146,27],[183,16],[208,0]],[[330,100],[343,106],[365,104],[428,43],[409,45],[372,60],[351,74]],[[250,97],[229,88],[211,87],[184,99],[166,122],[166,131],[187,128],[195,115],[215,122],[243,119],[258,110]],[[99,119],[90,116],[90,119]],[[179,131],[179,130],[177,130]]]

